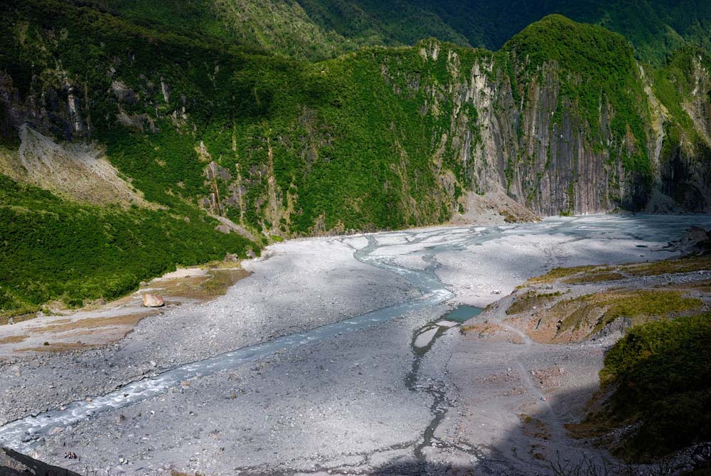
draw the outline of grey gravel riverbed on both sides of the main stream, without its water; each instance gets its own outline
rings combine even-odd
[[[29,445],[47,462],[111,475],[411,474],[475,467],[496,452],[466,442],[477,431],[471,424],[481,421],[471,418],[474,404],[463,401],[475,398],[471,391],[456,384],[463,372],[474,380],[490,374],[491,365],[478,369],[476,361],[451,360],[467,355],[457,351],[462,342],[454,327],[422,357],[412,381],[418,329],[457,303],[488,305],[554,266],[668,258],[674,255],[665,250],[668,240],[698,223],[711,220],[582,217],[272,245],[264,258],[245,263],[253,275],[223,297],[146,318],[117,344],[2,362],[0,423],[31,422],[33,414],[97,398],[129,381],[150,381],[189,362],[429,299],[413,280],[427,278],[432,287],[441,280],[438,292],[451,299],[435,296],[431,306],[403,309],[373,327],[176,381],[149,398],[58,425],[40,438],[2,441],[0,428],[0,443]],[[496,355],[496,365],[506,368],[506,349]],[[458,379],[451,379],[452,368]],[[443,424],[433,428],[436,415]],[[486,431],[504,434],[513,420],[488,415],[492,428]],[[81,459],[65,460],[68,451]]]

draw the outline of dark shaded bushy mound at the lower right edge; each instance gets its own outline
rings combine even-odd
[[[610,349],[600,378],[616,391],[605,413],[641,423],[628,456],[659,457],[711,438],[710,361],[711,314],[634,327]]]

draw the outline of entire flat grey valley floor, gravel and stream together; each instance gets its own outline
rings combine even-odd
[[[225,295],[142,319],[114,344],[0,344],[0,444],[82,474],[547,474],[557,455],[599,454],[562,425],[582,416],[611,341],[538,344],[509,323],[480,339],[433,323],[502,298],[472,322],[503,322],[528,278],[670,258],[668,242],[692,225],[711,218],[591,216],[272,245]],[[438,329],[436,340],[416,351],[423,328]]]

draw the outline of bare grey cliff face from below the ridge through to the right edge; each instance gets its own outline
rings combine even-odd
[[[506,73],[501,56],[484,54],[467,76],[460,71],[458,51],[435,41],[423,46],[424,62],[441,64],[447,58],[450,75],[447,83],[418,81],[416,88],[424,87],[428,94],[423,115],[451,111],[451,127],[435,132],[432,143],[439,144],[435,160],[442,150],[454,150],[454,161],[466,169],[465,180],[459,178],[461,188],[479,194],[505,190],[540,216],[645,207],[659,212],[711,210],[711,76],[705,58],[693,59],[693,90],[684,105],[695,135],[680,137],[665,131],[687,118],[666,110],[641,66],[629,71],[630,83],[640,86],[624,98],[631,111],[616,110],[596,90],[599,120],[589,122],[570,91],[562,90],[563,85],[570,90],[571,84],[578,88],[590,83],[583,74],[571,73],[555,60],[535,67],[528,58],[508,53],[514,75]],[[636,64],[631,57],[629,62]],[[383,68],[392,83],[405,74]],[[641,119],[643,130],[636,135],[628,124],[626,133],[614,132],[617,117],[630,112]]]

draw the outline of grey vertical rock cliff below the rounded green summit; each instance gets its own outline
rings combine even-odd
[[[479,194],[506,191],[539,216],[645,205],[648,186],[611,158],[611,148],[630,147],[609,130],[616,112],[601,100],[599,124],[584,122],[560,91],[562,76],[570,73],[557,63],[545,63],[526,73],[525,83],[512,84],[492,55],[475,60],[468,74],[459,71],[458,53],[442,51],[440,43],[423,47],[420,55],[429,63],[447,58],[449,83],[429,86],[421,112],[451,110],[451,127],[436,132],[432,142],[440,144],[435,160],[451,149],[454,161],[465,168],[461,188]],[[395,83],[399,73],[383,70]],[[516,100],[516,92],[526,99]],[[590,137],[609,147],[595,147]]]

